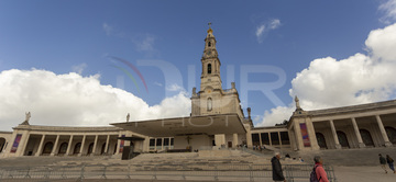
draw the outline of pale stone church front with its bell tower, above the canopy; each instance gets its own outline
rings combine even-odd
[[[232,88],[223,90],[220,77],[220,59],[216,49],[216,38],[213,30],[210,27],[205,38],[204,55],[201,58],[202,72],[200,90],[197,92],[193,88],[191,94],[191,116],[215,115],[237,113],[241,120],[243,111],[241,109],[235,83]]]

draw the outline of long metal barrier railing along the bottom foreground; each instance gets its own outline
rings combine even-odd
[[[285,164],[287,181],[307,181],[312,166]],[[332,167],[326,166],[329,180],[334,182]],[[21,180],[76,180],[85,179],[150,179],[200,181],[272,181],[271,164],[111,164],[0,169],[0,181]]]

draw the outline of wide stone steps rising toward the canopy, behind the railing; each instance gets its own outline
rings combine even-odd
[[[272,157],[272,153],[257,155],[246,150],[142,153],[131,160],[121,160],[121,156],[22,157],[1,159],[0,179],[271,181]],[[301,162],[284,159],[282,164]]]

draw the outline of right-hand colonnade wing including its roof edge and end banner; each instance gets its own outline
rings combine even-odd
[[[396,100],[296,111],[287,128],[295,150],[391,147],[396,145]]]

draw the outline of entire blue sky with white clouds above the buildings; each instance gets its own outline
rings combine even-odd
[[[0,130],[189,115],[208,22],[256,126],[396,98],[396,0],[4,0]]]

